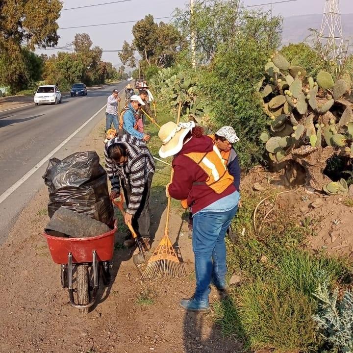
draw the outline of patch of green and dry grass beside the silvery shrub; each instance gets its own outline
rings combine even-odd
[[[345,258],[306,251],[311,229],[290,219],[285,209],[276,207],[271,219],[261,224],[275,195],[258,210],[256,224],[261,228],[255,231],[253,210],[266,196],[265,192],[242,195],[243,207],[233,221],[237,243],[227,240],[227,265],[229,276],[243,271],[248,279],[231,290],[227,301],[213,305],[216,322],[224,334],[235,335],[248,349],[318,349],[322,337],[312,318],[317,312],[313,293],[325,281],[331,287],[350,282],[352,266]]]

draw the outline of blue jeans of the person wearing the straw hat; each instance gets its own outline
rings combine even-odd
[[[193,251],[195,254],[196,299],[207,299],[211,278],[221,288],[226,284],[225,236],[238,205],[225,212],[199,212],[193,222]]]

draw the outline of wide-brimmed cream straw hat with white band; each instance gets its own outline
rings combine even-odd
[[[195,127],[193,121],[188,123],[168,122],[161,126],[158,137],[162,141],[162,147],[159,149],[159,155],[167,158],[181,151],[185,136]]]

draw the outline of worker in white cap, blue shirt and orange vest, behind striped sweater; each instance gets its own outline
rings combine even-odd
[[[119,130],[122,133],[128,133],[138,140],[146,142],[150,140],[151,136],[143,132],[143,127],[141,131],[141,127],[139,126],[139,120],[141,119],[138,114],[139,108],[144,105],[145,103],[140,96],[131,96],[129,102],[120,112]]]

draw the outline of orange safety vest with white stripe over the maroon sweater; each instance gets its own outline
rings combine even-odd
[[[184,154],[192,159],[206,173],[207,179],[194,185],[206,184],[217,194],[222,194],[234,181],[234,177],[228,173],[227,163],[223,161],[221,152],[216,145],[209,152],[191,152]],[[188,207],[187,201],[181,201],[184,208]]]

